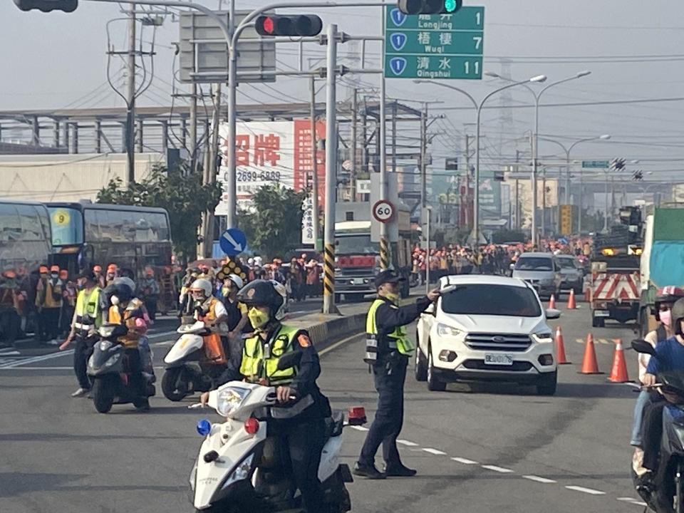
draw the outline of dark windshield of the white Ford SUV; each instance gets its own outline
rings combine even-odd
[[[539,317],[537,296],[530,289],[507,285],[459,285],[442,296],[445,314]]]

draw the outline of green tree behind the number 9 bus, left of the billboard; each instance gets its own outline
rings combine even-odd
[[[186,175],[155,166],[145,180],[125,188],[120,178],[110,180],[98,192],[98,203],[161,207],[169,213],[174,251],[180,260],[193,260],[197,254],[197,230],[202,212],[213,210],[221,197],[217,183],[202,185],[202,175]]]

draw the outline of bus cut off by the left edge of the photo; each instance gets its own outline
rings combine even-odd
[[[45,205],[0,199],[0,272],[19,279],[51,263],[50,217]]]

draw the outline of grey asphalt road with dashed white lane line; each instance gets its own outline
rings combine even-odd
[[[577,373],[578,341],[591,326],[581,307],[559,321],[573,365],[561,367],[554,397],[511,385],[429,392],[411,366],[400,450],[418,476],[356,480],[349,485],[353,511],[641,512],[628,479],[636,393],[606,383],[606,375]],[[610,371],[617,337],[631,340],[631,330],[594,330],[601,371]],[[157,363],[170,340],[153,339]],[[320,383],[334,407],[365,405],[372,418],[376,396],[362,352],[361,336],[326,351]],[[627,358],[636,377],[636,357],[628,351]],[[0,367],[0,512],[192,511],[187,477],[202,416],[187,410],[192,400],[159,395],[150,413],[115,405],[100,415],[90,400],[69,397],[76,388],[70,366],[71,356],[62,354]],[[345,432],[350,465],[364,435]]]

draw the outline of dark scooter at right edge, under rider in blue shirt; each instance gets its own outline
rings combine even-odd
[[[642,340],[632,342],[638,353],[652,358],[655,348]],[[639,485],[639,478],[631,469],[632,480],[648,507],[657,513],[684,513],[684,371],[663,371],[658,373],[659,388],[668,402],[663,408],[663,437],[660,441],[658,470],[653,482],[655,490],[646,492]]]

